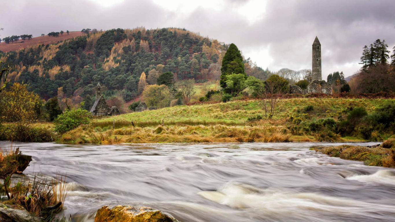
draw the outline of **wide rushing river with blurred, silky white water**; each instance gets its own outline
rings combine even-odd
[[[340,144],[376,143],[13,145],[33,156],[25,174],[67,173],[73,221],[118,204],[180,222],[395,221],[395,170],[309,150]]]

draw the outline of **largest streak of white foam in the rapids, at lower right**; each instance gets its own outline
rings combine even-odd
[[[198,195],[210,201],[235,209],[253,209],[265,214],[299,215],[313,212],[337,212],[339,214],[361,214],[363,211],[395,210],[388,205],[326,196],[318,193],[292,193],[280,189],[260,189],[246,184],[226,184],[218,191],[203,191]]]

